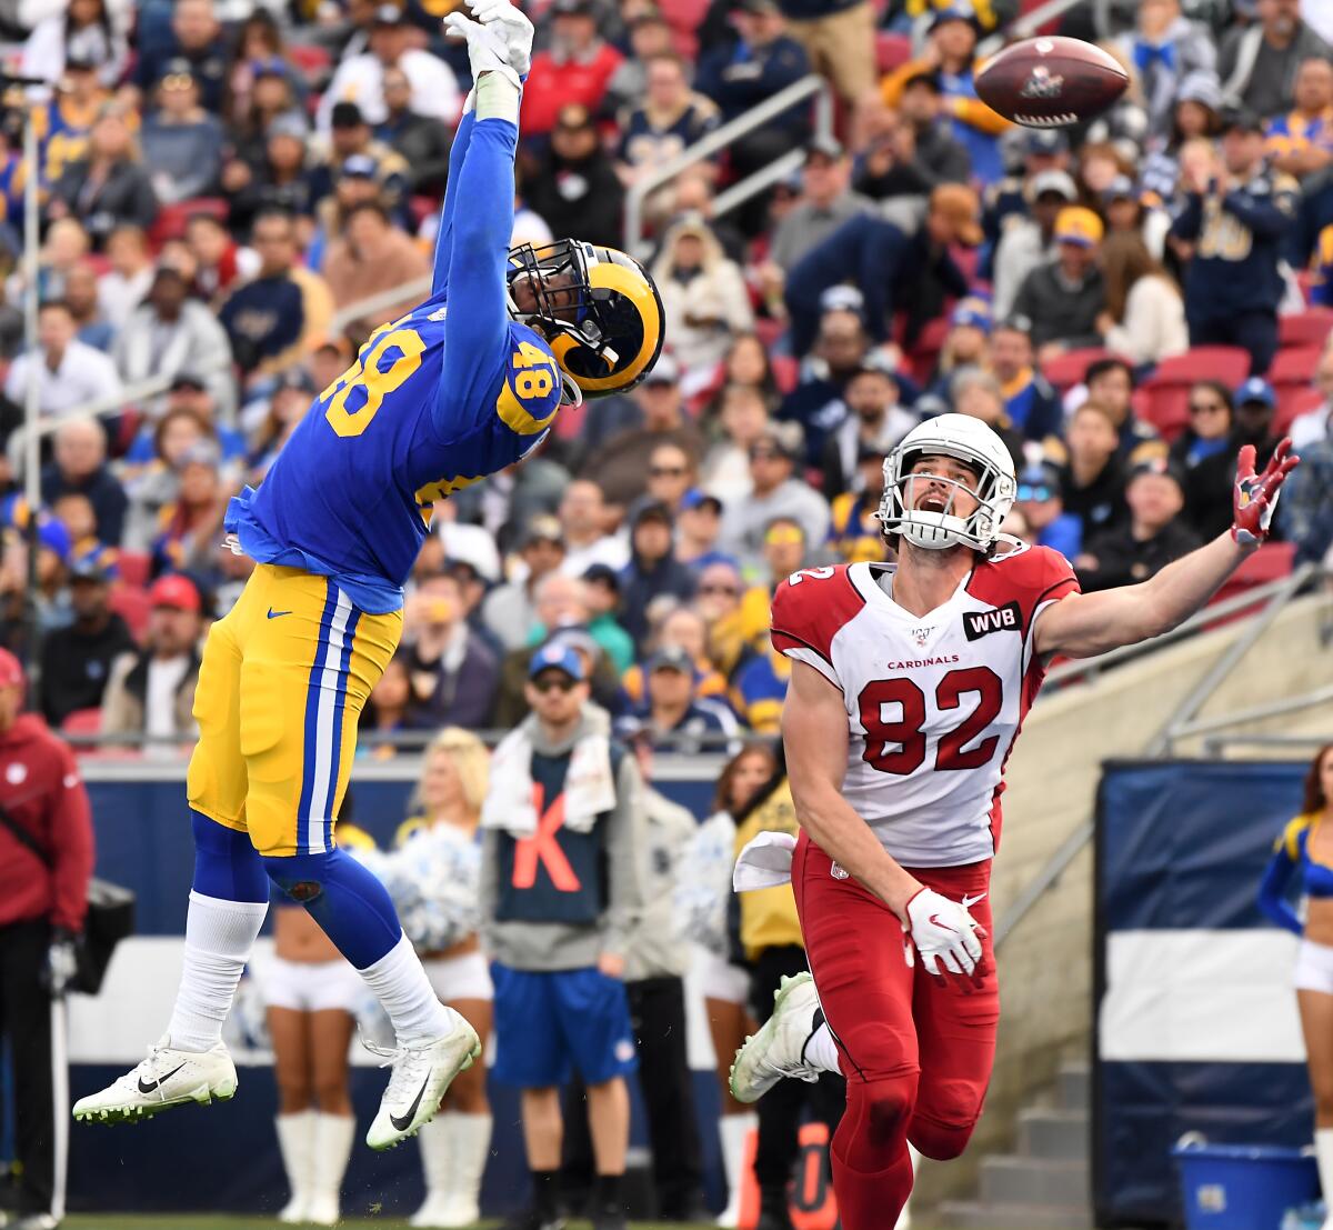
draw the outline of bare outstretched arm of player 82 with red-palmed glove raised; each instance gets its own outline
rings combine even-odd
[[[1286,475],[1297,458],[1282,440],[1262,475],[1254,474],[1254,450],[1241,450],[1234,515],[1228,534],[1174,560],[1150,580],[1097,594],[1070,594],[1037,620],[1038,654],[1092,658],[1122,644],[1137,644],[1184,623],[1268,536],[1269,522]]]

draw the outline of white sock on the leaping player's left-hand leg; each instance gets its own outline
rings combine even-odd
[[[264,926],[268,902],[221,900],[189,894],[185,969],[167,1034],[183,1051],[207,1051],[223,1041],[236,983]]]

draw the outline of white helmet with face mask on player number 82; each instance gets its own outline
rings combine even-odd
[[[977,486],[942,479],[954,488],[942,511],[912,508],[906,480],[922,456],[948,456],[966,463],[977,471]],[[952,512],[958,491],[977,502],[968,516]],[[962,543],[984,552],[1000,538],[1000,526],[1013,506],[1016,491],[1013,458],[1004,440],[970,415],[940,415],[913,427],[884,459],[880,526],[885,534],[901,534],[918,547],[942,550]]]

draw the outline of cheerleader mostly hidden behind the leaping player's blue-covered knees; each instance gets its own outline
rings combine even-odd
[[[352,852],[375,848],[369,834],[344,819],[336,836]],[[292,1193],[277,1218],[332,1226],[356,1134],[347,1053],[365,983],[304,906],[285,895],[273,906],[273,959],[260,987],[273,1039],[277,1143]]]

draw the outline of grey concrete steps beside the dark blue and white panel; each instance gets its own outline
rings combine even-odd
[[[984,1158],[978,1198],[945,1201],[936,1213],[940,1230],[1090,1227],[1089,1081],[1085,1062],[1064,1063],[1053,1089],[1018,1111],[1018,1151]]]

